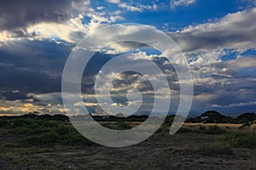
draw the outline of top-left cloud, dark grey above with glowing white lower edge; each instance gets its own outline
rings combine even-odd
[[[79,42],[86,33],[81,19],[89,5],[87,0],[4,2],[0,7],[0,42],[24,38]]]

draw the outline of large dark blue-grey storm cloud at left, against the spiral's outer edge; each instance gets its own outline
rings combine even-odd
[[[22,41],[0,47],[0,90],[27,93],[61,91],[61,72],[71,47]]]

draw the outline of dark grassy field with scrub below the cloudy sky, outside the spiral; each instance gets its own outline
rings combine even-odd
[[[141,144],[109,148],[65,121],[0,119],[0,169],[256,169],[255,126],[170,123]],[[102,122],[125,129],[132,122]]]

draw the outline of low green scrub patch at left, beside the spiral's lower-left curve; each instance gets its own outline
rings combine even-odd
[[[45,121],[32,118],[0,119],[1,126],[10,133],[20,136],[20,144],[54,146],[54,145],[90,145],[69,122]]]

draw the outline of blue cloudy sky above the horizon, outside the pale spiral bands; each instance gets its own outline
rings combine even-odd
[[[255,0],[0,2],[0,115],[65,114],[61,77],[67,57],[84,37],[125,23],[153,26],[181,48],[193,75],[191,115],[208,110],[226,115],[256,112]],[[104,113],[93,94],[93,81],[104,64],[125,50],[132,59],[147,58],[160,66],[172,95],[169,112],[175,113],[180,89],[172,65],[156,50],[132,42],[113,43],[90,59],[82,78],[84,102],[78,105],[90,113]],[[148,114],[153,88],[141,77],[137,72],[119,74],[113,81],[111,105],[133,105],[124,96],[138,88],[143,104],[137,113]]]

